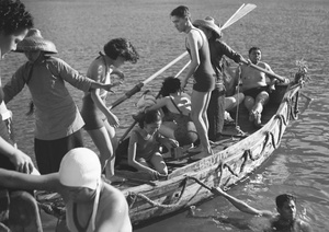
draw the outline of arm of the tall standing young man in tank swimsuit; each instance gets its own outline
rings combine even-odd
[[[200,56],[198,56],[198,45],[197,45],[197,38],[200,37],[200,33],[196,32],[196,30],[192,30],[188,34],[188,46],[190,48],[191,53],[191,63],[189,67],[189,71],[186,76],[181,81],[181,89],[183,90],[188,83],[188,80],[193,76],[197,67],[200,66]]]

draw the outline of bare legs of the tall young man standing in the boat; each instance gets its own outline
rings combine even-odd
[[[197,92],[197,91],[192,92],[191,115],[200,138],[201,148],[203,150],[202,153],[197,154],[196,159],[201,159],[202,156],[212,154],[212,149],[211,149],[208,135],[207,135],[208,121],[206,119],[206,109],[208,107],[209,98],[211,98],[211,92]]]

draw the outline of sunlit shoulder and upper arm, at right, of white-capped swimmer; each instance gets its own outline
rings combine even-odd
[[[132,223],[128,216],[128,205],[123,194],[113,188],[111,200],[107,200],[107,207],[101,212],[99,223],[95,225],[95,232],[131,232]]]

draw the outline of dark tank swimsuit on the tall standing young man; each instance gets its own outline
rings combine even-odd
[[[193,28],[196,30],[196,28]],[[197,32],[200,32],[197,30]],[[200,32],[202,33],[202,32]],[[203,38],[203,36],[202,36]],[[186,46],[186,50],[191,56],[191,50]],[[194,85],[193,90],[197,92],[211,92],[215,88],[215,72],[211,62],[211,53],[209,53],[209,45],[207,39],[203,39],[203,45],[198,49],[198,56],[200,56],[200,65],[194,72]]]

